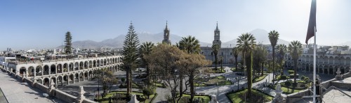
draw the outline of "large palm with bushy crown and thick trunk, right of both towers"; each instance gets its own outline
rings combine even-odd
[[[242,33],[239,38],[237,38],[237,48],[240,52],[242,52],[242,58],[244,59],[244,69],[246,69],[246,54],[249,53],[251,55],[251,67],[246,69],[247,72],[247,80],[248,80],[248,92],[249,97],[251,96],[251,86],[252,86],[252,50],[256,46],[255,42],[256,38],[251,33]]]

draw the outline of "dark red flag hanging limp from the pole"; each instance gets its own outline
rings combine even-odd
[[[308,40],[314,36],[314,32],[317,31],[317,29],[314,29],[316,27],[316,0],[312,0],[311,3],[311,11],[310,11],[310,21],[308,22],[308,29],[307,29],[307,35],[306,35],[306,44],[308,44]]]

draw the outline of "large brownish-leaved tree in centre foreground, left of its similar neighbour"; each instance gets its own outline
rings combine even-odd
[[[180,80],[178,71],[182,71],[179,70],[176,62],[185,54],[176,46],[159,44],[152,49],[151,54],[145,56],[152,71],[157,71],[157,76],[171,89],[171,97],[167,97],[167,100],[173,103],[176,103],[178,98],[177,88]]]

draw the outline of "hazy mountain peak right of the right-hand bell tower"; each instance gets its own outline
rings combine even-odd
[[[268,31],[265,31],[263,29],[255,29],[253,31],[250,31],[249,33],[255,36],[256,42],[258,44],[270,45],[270,39],[268,38]],[[289,43],[290,42],[282,39],[279,39],[277,42],[277,44],[285,44],[285,45],[289,45]],[[232,47],[233,45],[237,45],[237,39],[222,43],[222,47],[230,47],[230,45],[232,45]]]

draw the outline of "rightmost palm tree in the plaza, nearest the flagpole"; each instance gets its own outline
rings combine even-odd
[[[291,58],[293,58],[294,72],[293,72],[293,83],[296,84],[296,72],[298,70],[298,58],[303,53],[303,45],[298,40],[290,42],[288,50]]]

